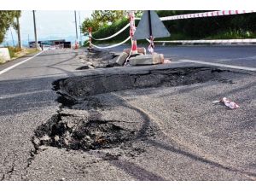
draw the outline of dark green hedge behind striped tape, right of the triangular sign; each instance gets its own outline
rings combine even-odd
[[[183,15],[191,13],[207,12],[209,10],[193,11],[158,11],[160,17],[170,15]],[[205,17],[185,20],[166,20],[165,26],[171,33],[182,33],[191,39],[213,37],[216,34],[226,34],[225,37],[246,37],[242,32],[256,32],[256,14],[226,15],[218,17]],[[233,33],[232,33],[233,32]],[[240,33],[240,35],[238,35]],[[221,37],[219,37],[221,38]],[[249,36],[249,38],[251,38]]]

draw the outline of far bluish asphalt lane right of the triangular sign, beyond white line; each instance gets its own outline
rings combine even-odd
[[[122,51],[125,47],[113,49]],[[161,46],[154,49],[172,61],[192,60],[221,63],[241,67],[256,67],[256,46]]]

